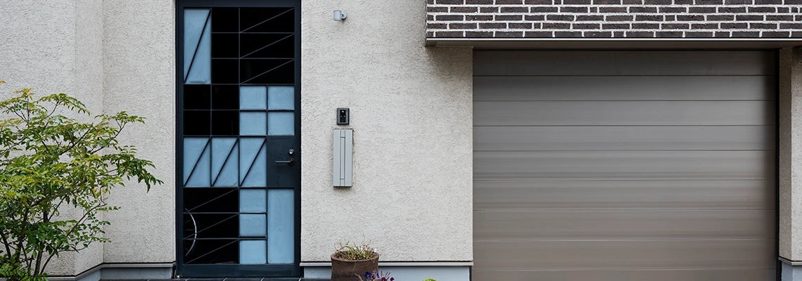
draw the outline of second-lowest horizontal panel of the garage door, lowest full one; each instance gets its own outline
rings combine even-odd
[[[772,268],[767,240],[474,240],[474,268],[496,270]]]

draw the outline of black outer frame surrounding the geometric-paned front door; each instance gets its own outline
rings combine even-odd
[[[187,7],[293,7],[295,14],[295,143],[298,147],[294,159],[298,165],[299,172],[295,179],[298,186],[294,188],[295,206],[295,247],[294,263],[291,265],[270,265],[269,272],[265,272],[264,265],[245,265],[245,264],[215,264],[215,265],[186,265],[184,264],[184,243],[182,233],[184,233],[183,208],[184,208],[184,179],[183,169],[179,169],[179,163],[184,159],[184,8]],[[301,272],[301,1],[300,0],[176,0],[176,276],[182,277],[300,277]]]

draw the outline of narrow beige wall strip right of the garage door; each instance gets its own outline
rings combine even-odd
[[[780,51],[780,256],[802,259],[802,49]]]

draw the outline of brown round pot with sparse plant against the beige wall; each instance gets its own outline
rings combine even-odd
[[[358,281],[379,270],[379,253],[367,244],[339,243],[331,255],[331,281]]]

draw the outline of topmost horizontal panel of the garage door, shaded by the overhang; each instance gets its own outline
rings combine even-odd
[[[474,76],[773,75],[775,54],[754,51],[477,51]]]

